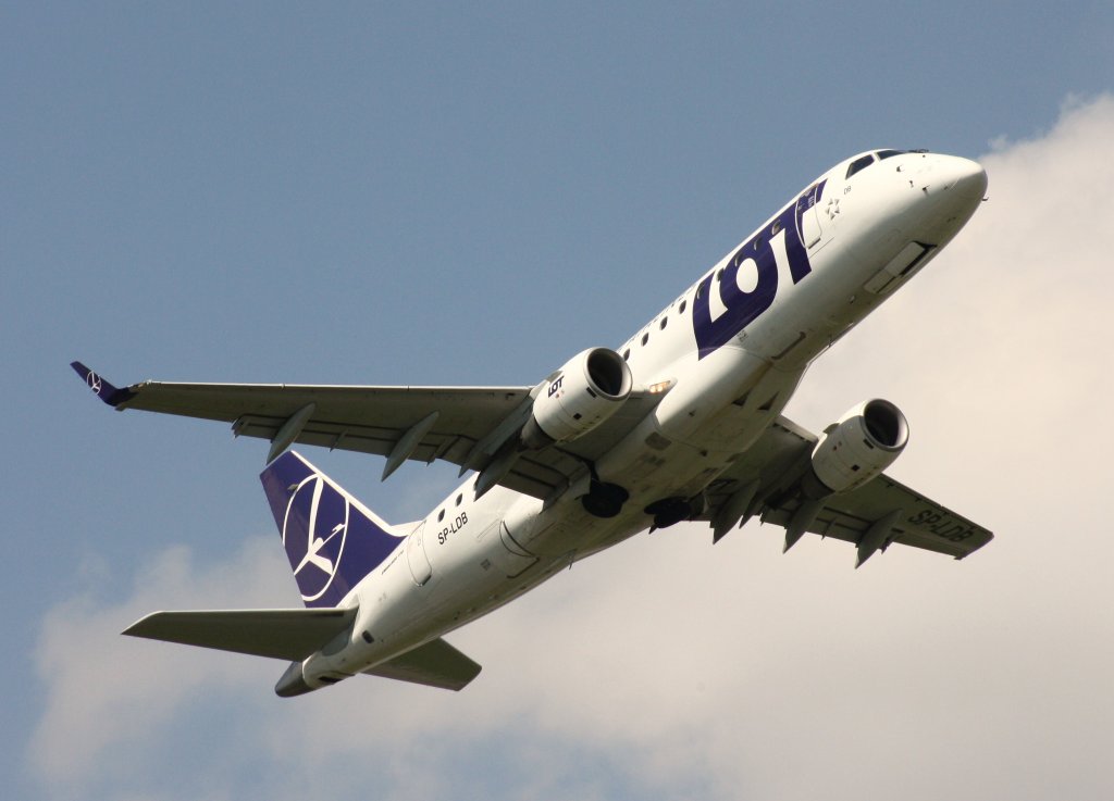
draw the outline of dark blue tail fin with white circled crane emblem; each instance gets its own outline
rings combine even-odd
[[[335,606],[402,535],[293,451],[260,474],[306,606]]]

